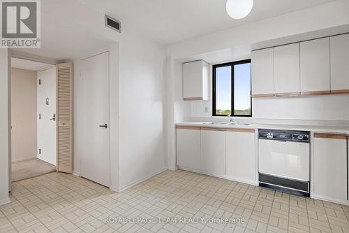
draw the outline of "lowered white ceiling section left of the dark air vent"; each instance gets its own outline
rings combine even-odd
[[[115,42],[94,30],[104,27],[103,15],[77,0],[41,1],[40,16],[41,48],[15,50],[65,61]]]

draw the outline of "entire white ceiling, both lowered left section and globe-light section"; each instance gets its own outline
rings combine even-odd
[[[250,15],[233,20],[225,0],[45,0],[41,48],[17,50],[65,61],[103,48],[122,36],[104,27],[105,13],[121,21],[123,33],[169,45],[329,1],[255,0]]]

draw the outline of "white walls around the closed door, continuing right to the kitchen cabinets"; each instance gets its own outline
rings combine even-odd
[[[86,55],[110,51],[111,188],[123,190],[167,169],[165,48],[124,34],[119,43]],[[80,60],[74,62],[74,173],[82,151]]]

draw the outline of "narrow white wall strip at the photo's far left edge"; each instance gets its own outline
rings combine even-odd
[[[0,49],[0,205],[10,202],[9,190],[9,115],[8,115],[8,50]]]

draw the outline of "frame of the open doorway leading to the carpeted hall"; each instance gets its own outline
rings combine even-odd
[[[25,59],[29,60],[32,62],[42,62],[46,64],[52,64],[52,65],[57,65],[59,61],[55,59],[50,59],[47,57],[41,57],[37,55],[31,55],[26,52],[18,52],[13,49],[8,49],[8,190],[12,190],[12,152],[11,152],[11,146],[12,146],[12,141],[11,141],[11,58],[19,58],[19,59]]]

